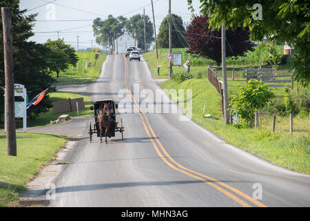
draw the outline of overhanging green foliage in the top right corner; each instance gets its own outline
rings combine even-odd
[[[191,6],[192,0],[187,1]],[[200,0],[200,3],[200,9],[210,14],[209,28],[220,28],[223,23],[230,28],[249,26],[251,40],[261,41],[267,37],[293,46],[293,77],[303,86],[309,86],[310,13],[307,1],[259,1],[262,20],[253,18],[256,0]]]

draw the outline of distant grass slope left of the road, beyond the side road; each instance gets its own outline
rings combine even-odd
[[[77,66],[70,66],[68,70],[59,73],[56,85],[90,84],[101,73],[101,66],[107,55],[100,54],[96,66],[94,66],[96,52],[76,52],[76,54],[80,59]],[[85,61],[88,61],[87,71],[85,70]],[[56,74],[53,76],[56,77]]]

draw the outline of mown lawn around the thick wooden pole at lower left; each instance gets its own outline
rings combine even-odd
[[[6,134],[0,134],[0,206],[17,204],[27,182],[56,157],[68,138],[62,135],[17,133],[17,157],[8,156]]]

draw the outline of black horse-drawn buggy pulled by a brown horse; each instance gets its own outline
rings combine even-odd
[[[120,132],[123,140],[123,121],[121,119],[121,125],[118,126],[116,108],[118,104],[115,104],[112,99],[96,101],[94,106],[90,107],[90,110],[94,110],[94,128],[90,122],[90,142],[92,142],[93,133],[100,137],[100,142],[102,142],[102,137],[105,137],[105,144],[107,144],[107,137],[115,137],[115,132]]]

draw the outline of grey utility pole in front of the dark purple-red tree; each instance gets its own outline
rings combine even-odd
[[[229,124],[228,115],[228,93],[227,93],[227,76],[226,76],[226,42],[225,42],[225,25],[222,25],[222,73],[223,73],[223,97],[224,97],[224,120],[225,124]]]

